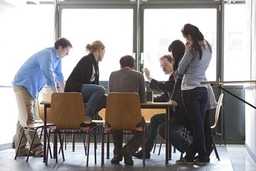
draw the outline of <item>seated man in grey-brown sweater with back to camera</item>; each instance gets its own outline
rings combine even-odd
[[[145,102],[145,80],[142,73],[134,70],[135,59],[130,55],[125,55],[120,59],[120,65],[121,69],[112,72],[109,77],[109,92],[137,92],[140,95],[140,102]],[[146,126],[144,119],[139,124]],[[123,134],[113,134],[113,144],[114,157],[111,159],[111,163],[120,163],[124,157],[126,165],[133,165],[132,155],[140,148],[142,136],[134,135],[123,146]]]

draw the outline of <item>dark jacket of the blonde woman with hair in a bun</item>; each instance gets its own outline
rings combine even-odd
[[[95,80],[91,82],[93,67],[95,69]],[[99,85],[99,64],[96,62],[92,53],[84,56],[76,64],[76,67],[66,80],[64,92],[81,92],[83,84]]]

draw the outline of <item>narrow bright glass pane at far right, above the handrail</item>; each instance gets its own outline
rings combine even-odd
[[[249,14],[246,5],[225,5],[224,80],[250,80]]]

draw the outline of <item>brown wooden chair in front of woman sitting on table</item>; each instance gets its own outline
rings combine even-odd
[[[62,159],[65,161],[64,153],[63,153],[63,142],[62,142],[62,134],[63,133],[79,133],[83,135],[88,135],[88,139],[86,141],[87,146],[87,161],[86,166],[89,163],[89,141],[90,135],[94,131],[95,126],[93,127],[81,127],[80,124],[86,120],[85,112],[84,112],[84,103],[83,96],[79,92],[54,92],[52,93],[51,98],[51,114],[49,115],[49,119],[55,124],[52,129],[49,129],[49,134],[57,134],[59,135],[59,144],[62,149]],[[49,139],[48,139],[49,146]],[[57,153],[56,142],[54,148],[55,154]],[[45,165],[48,164],[48,153],[49,148],[47,150],[47,159]],[[58,162],[58,155],[56,155],[56,163]],[[96,135],[94,134],[94,156],[96,163]]]

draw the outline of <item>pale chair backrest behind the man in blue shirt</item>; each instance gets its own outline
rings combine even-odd
[[[19,123],[21,124],[21,126],[28,126],[28,124],[27,124],[28,112],[27,112],[27,107],[25,106],[25,100],[22,96],[22,93],[15,92],[15,99],[16,99],[17,106],[18,106]]]

